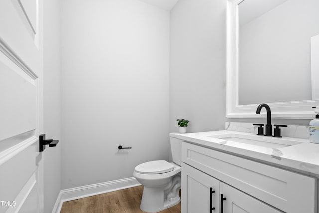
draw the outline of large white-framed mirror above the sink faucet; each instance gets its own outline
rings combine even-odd
[[[319,104],[319,1],[228,0],[227,117],[314,117]]]

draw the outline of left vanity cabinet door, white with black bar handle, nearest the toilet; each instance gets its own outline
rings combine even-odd
[[[181,212],[219,213],[220,181],[185,163],[182,163],[181,174]]]

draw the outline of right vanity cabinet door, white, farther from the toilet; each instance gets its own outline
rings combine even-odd
[[[220,183],[220,213],[284,213],[223,182]]]

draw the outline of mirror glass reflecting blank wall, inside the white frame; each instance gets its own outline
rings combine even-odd
[[[238,18],[238,104],[318,100],[319,0],[244,0]]]

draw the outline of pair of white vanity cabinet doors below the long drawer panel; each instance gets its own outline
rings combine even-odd
[[[185,163],[182,170],[182,213],[283,213]]]

